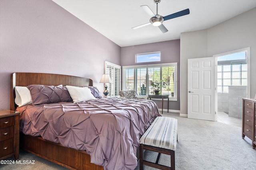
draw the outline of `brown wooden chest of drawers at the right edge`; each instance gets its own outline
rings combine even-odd
[[[247,136],[252,140],[252,147],[256,147],[256,101],[242,100],[242,138]]]

